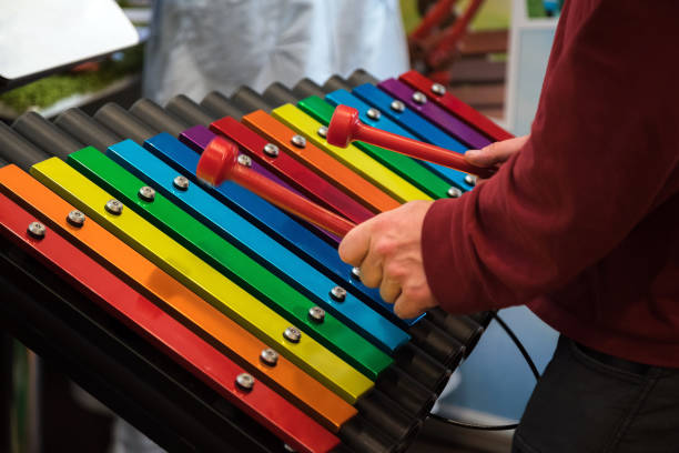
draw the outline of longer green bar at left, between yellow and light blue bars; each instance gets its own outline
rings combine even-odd
[[[68,162],[366,376],[374,380],[391,365],[387,354],[330,313],[323,323],[310,320],[308,310],[315,303],[161,193],[155,192],[151,202],[142,200],[139,189],[146,184],[97,149],[75,151]]]

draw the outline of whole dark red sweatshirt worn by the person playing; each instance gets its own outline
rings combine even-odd
[[[526,145],[432,205],[454,313],[527,304],[567,336],[679,366],[679,1],[570,0]]]

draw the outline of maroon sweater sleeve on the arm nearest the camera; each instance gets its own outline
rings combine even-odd
[[[567,2],[530,139],[425,218],[425,271],[444,309],[558,290],[663,201],[679,159],[677,17],[670,0]]]

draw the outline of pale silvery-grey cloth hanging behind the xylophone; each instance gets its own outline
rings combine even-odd
[[[377,78],[408,69],[397,0],[158,0],[144,95],[200,100],[357,68]]]

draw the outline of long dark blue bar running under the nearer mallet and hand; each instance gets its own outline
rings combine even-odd
[[[180,135],[180,139],[185,138]],[[161,133],[146,140],[144,148],[192,182],[197,182],[195,169],[200,155],[194,151],[202,150],[190,150],[176,147],[174,143],[175,139],[173,137]],[[195,142],[186,141],[186,143]],[[377,290],[369,289],[361,283],[361,280],[352,273],[352,268],[340,260],[334,248],[320,238],[308,234],[304,226],[267,201],[230,181],[219,188],[204,188],[204,190],[274,238],[278,243],[311,262],[326,276],[340,282],[349,293],[367,302],[392,322],[396,322],[398,325],[412,325],[417,321],[417,319],[399,320],[394,314],[393,305],[384,302]]]

